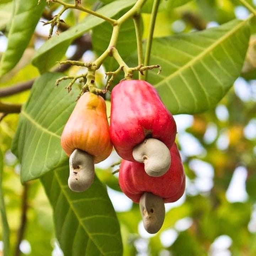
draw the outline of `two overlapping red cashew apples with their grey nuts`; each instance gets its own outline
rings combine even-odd
[[[177,201],[185,190],[176,132],[172,114],[148,82],[128,80],[114,87],[110,136],[122,158],[119,185],[139,203],[149,233],[161,228],[164,203]]]

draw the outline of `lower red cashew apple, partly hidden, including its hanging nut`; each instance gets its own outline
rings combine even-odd
[[[164,203],[177,201],[185,191],[185,174],[179,151],[174,143],[170,149],[171,166],[161,177],[151,177],[138,162],[122,160],[119,170],[121,190],[139,203],[145,229],[154,234],[164,222]]]

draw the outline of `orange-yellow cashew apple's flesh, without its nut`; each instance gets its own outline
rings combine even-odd
[[[75,149],[85,151],[94,163],[106,159],[112,151],[106,103],[101,96],[85,92],[76,103],[61,136],[68,156]]]

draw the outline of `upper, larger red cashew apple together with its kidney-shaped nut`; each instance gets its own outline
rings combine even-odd
[[[148,175],[161,176],[170,167],[169,148],[175,141],[176,132],[172,114],[151,84],[124,80],[113,88],[110,136],[121,158],[146,162]],[[149,138],[152,138],[150,143],[147,142]],[[151,161],[160,155],[159,161]]]

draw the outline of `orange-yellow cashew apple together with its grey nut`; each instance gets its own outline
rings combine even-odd
[[[69,188],[87,190],[94,181],[94,164],[106,159],[113,148],[101,96],[85,92],[79,98],[63,129],[61,145],[69,156]]]

